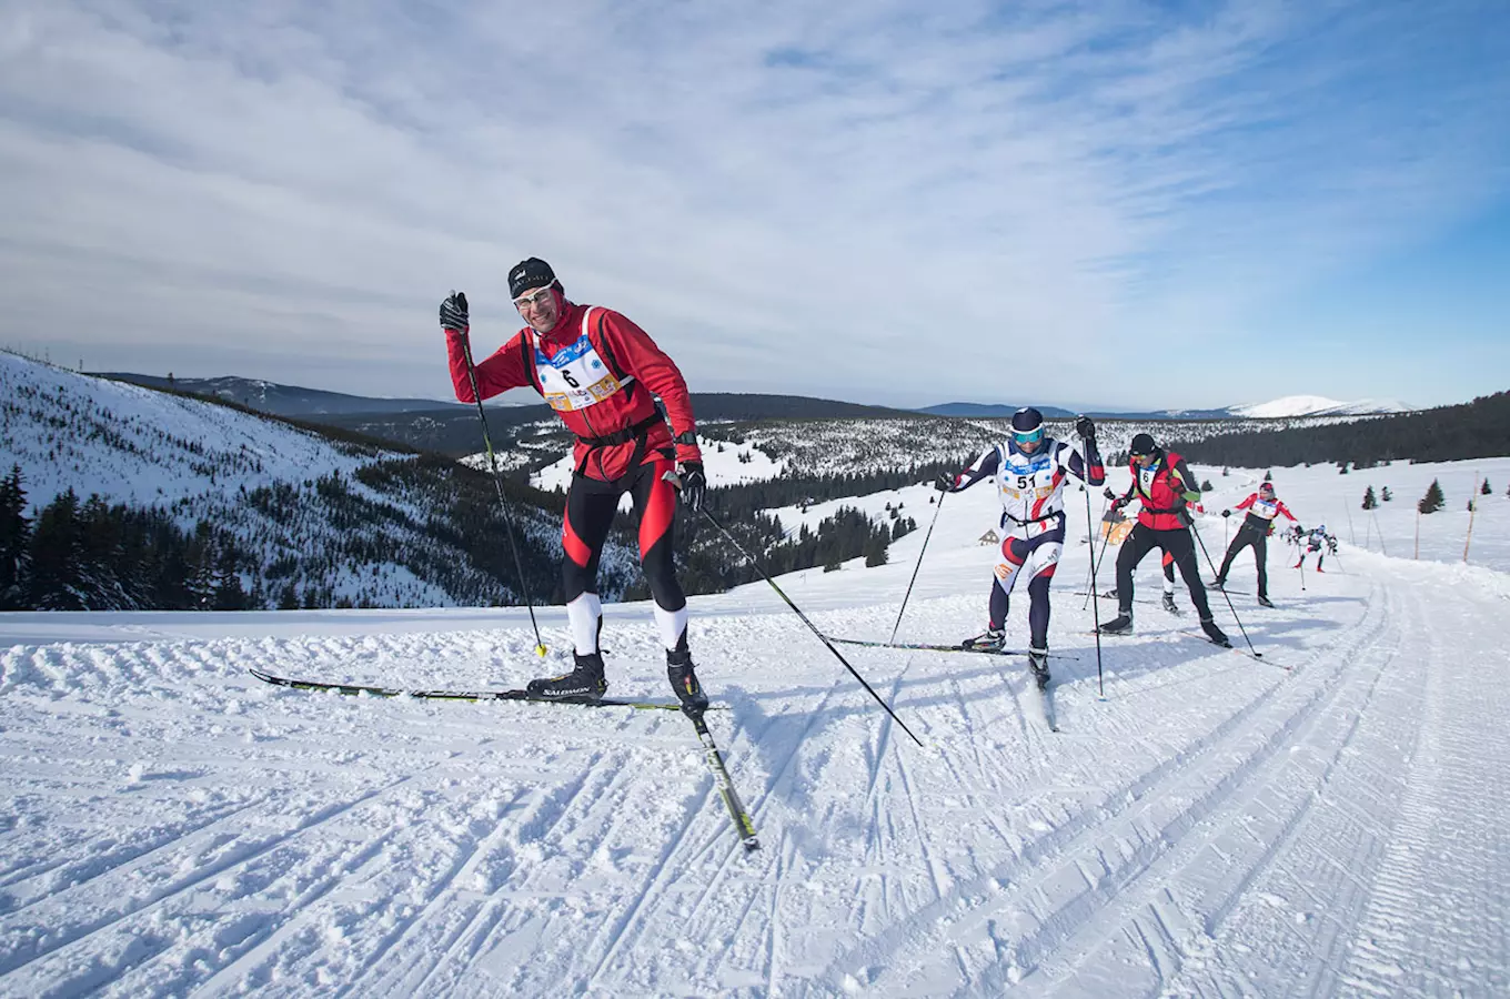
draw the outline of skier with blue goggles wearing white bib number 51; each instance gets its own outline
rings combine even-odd
[[[1001,649],[1006,640],[1007,607],[1019,576],[1028,578],[1028,665],[1039,688],[1048,687],[1048,587],[1065,551],[1065,477],[1075,475],[1099,486],[1105,481],[1096,451],[1096,424],[1075,420],[1075,433],[1086,454],[1043,432],[1043,413],[1031,406],[1012,415],[1012,433],[985,451],[963,472],[939,475],[938,489],[959,492],[986,478],[997,480],[1001,498],[1001,561],[991,582],[986,631],[965,640],[966,647]]]

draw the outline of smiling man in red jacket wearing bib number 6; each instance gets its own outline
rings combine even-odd
[[[707,477],[698,450],[692,401],[681,371],[627,317],[566,299],[550,264],[538,257],[509,272],[509,296],[527,326],[491,358],[476,365],[483,398],[510,388],[532,386],[566,429],[577,435],[577,469],[566,493],[562,527],[562,582],[566,617],[575,643],[575,669],[563,676],[530,681],[541,697],[601,697],[604,678],[598,632],[598,558],[613,525],[619,496],[634,496],[640,522],[640,566],[654,598],[655,623],[666,646],[666,676],[687,714],[708,706],[687,649],[687,598],[672,563],[672,515],[680,481],[681,500],[702,507]],[[464,344],[468,337],[467,296],[441,303],[441,327],[450,353],[456,398],[476,401]],[[672,429],[655,406],[666,404]],[[675,433],[675,436],[672,436]]]

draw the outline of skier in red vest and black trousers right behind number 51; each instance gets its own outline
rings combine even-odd
[[[1190,512],[1187,507],[1200,503],[1196,477],[1190,474],[1185,459],[1173,451],[1164,451],[1146,433],[1132,438],[1128,448],[1132,484],[1113,501],[1125,507],[1134,498],[1142,503],[1137,527],[1117,552],[1117,617],[1101,626],[1107,635],[1132,634],[1132,570],[1154,548],[1163,548],[1175,557],[1179,575],[1190,590],[1190,601],[1200,614],[1200,629],[1219,646],[1231,647],[1226,634],[1217,628],[1206,602],[1206,589],[1200,584],[1196,566],[1196,543],[1190,536]]]

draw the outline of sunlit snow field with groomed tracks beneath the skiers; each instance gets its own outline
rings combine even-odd
[[[1463,566],[1475,471],[1495,495]],[[1261,474],[1211,471],[1214,558]],[[1431,477],[1433,561],[1409,561]],[[1068,495],[1060,733],[1022,659],[844,649],[920,748],[769,587],[696,598],[750,856],[675,714],[246,675],[512,687],[541,669],[522,610],[0,614],[0,994],[1510,994],[1510,459],[1274,480],[1342,551],[1302,592],[1271,543],[1277,607],[1232,598],[1271,664],[1139,604],[1104,699]],[[920,530],[891,564],[781,579],[826,631],[891,632],[935,512],[901,496]],[[980,628],[994,521],[986,487],[947,498],[898,638]],[[610,693],[663,696],[646,607],[606,610]],[[541,620],[559,662],[565,619]]]

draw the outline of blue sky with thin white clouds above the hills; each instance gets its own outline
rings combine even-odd
[[[1507,66],[1504,0],[11,0],[0,346],[442,398],[539,255],[699,391],[1460,401]]]

